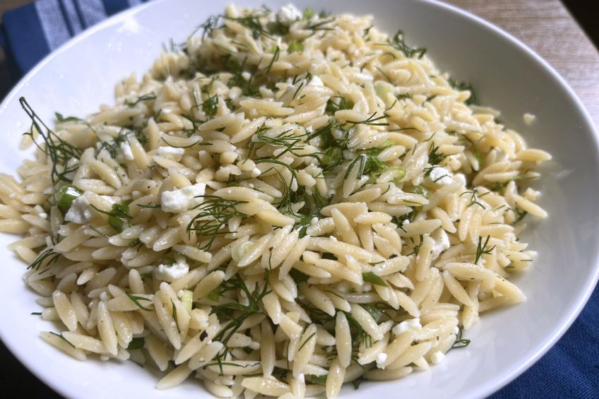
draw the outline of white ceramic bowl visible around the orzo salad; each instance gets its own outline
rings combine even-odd
[[[278,8],[281,1],[239,0],[237,4]],[[296,1],[316,10],[324,2]],[[18,97],[24,95],[46,120],[54,111],[84,115],[111,103],[120,78],[148,69],[160,46],[182,40],[225,2],[158,0],[106,20],[42,61],[0,106],[1,172],[14,172],[25,157],[20,134],[28,128]],[[367,382],[359,391],[345,388],[343,398],[480,398],[496,391],[530,367],[570,326],[598,276],[599,169],[597,133],[583,106],[545,61],[505,32],[451,6],[432,1],[327,1],[333,13],[372,13],[389,33],[398,28],[408,42],[427,47],[442,69],[473,83],[480,102],[502,110],[502,120],[529,143],[548,150],[554,161],[538,183],[540,204],[550,219],[531,226],[526,239],[540,259],[516,282],[528,302],[485,315],[465,335],[470,346],[449,352],[431,371],[401,381]],[[526,126],[522,114],[537,116]],[[530,219],[529,219],[530,220]],[[54,329],[30,316],[40,311],[37,296],[21,276],[25,265],[6,250],[16,237],[0,235],[5,261],[0,279],[0,336],[13,353],[45,383],[70,398],[176,398],[209,395],[194,379],[170,391],[154,389],[157,375],[131,362],[77,362],[38,338]],[[116,389],[118,388],[118,389]]]

